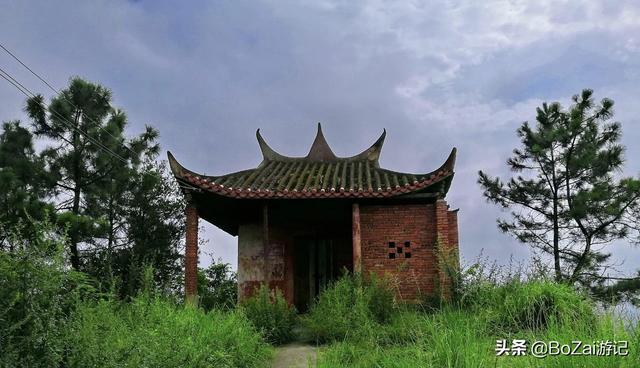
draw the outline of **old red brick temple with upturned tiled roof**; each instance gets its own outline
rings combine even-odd
[[[386,132],[369,149],[344,158],[331,151],[320,125],[305,157],[281,155],[256,134],[263,160],[255,169],[205,176],[169,153],[188,201],[188,296],[197,286],[199,218],[238,237],[240,298],[266,282],[305,309],[344,268],[396,275],[404,300],[447,294],[436,247],[457,265],[457,210],[444,199],[455,148],[436,170],[409,174],[380,168]]]

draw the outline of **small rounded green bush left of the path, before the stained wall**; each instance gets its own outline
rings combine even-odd
[[[293,338],[296,311],[279,289],[271,291],[262,284],[254,296],[242,302],[241,309],[270,343],[284,344]]]

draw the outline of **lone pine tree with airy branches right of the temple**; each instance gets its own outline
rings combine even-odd
[[[612,122],[613,101],[593,100],[585,89],[563,109],[544,103],[536,124],[517,130],[522,147],[507,161],[518,175],[508,182],[480,171],[484,196],[511,209],[499,228],[553,259],[555,279],[592,286],[613,240],[629,232],[627,216],[640,198],[640,180],[618,178],[624,147]]]

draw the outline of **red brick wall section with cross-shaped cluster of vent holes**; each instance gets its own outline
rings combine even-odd
[[[440,271],[436,244],[440,239],[441,246],[457,251],[457,211],[449,211],[444,200],[362,205],[360,226],[365,273],[394,276],[397,295],[406,301],[441,290],[443,296],[450,295],[451,283]]]

